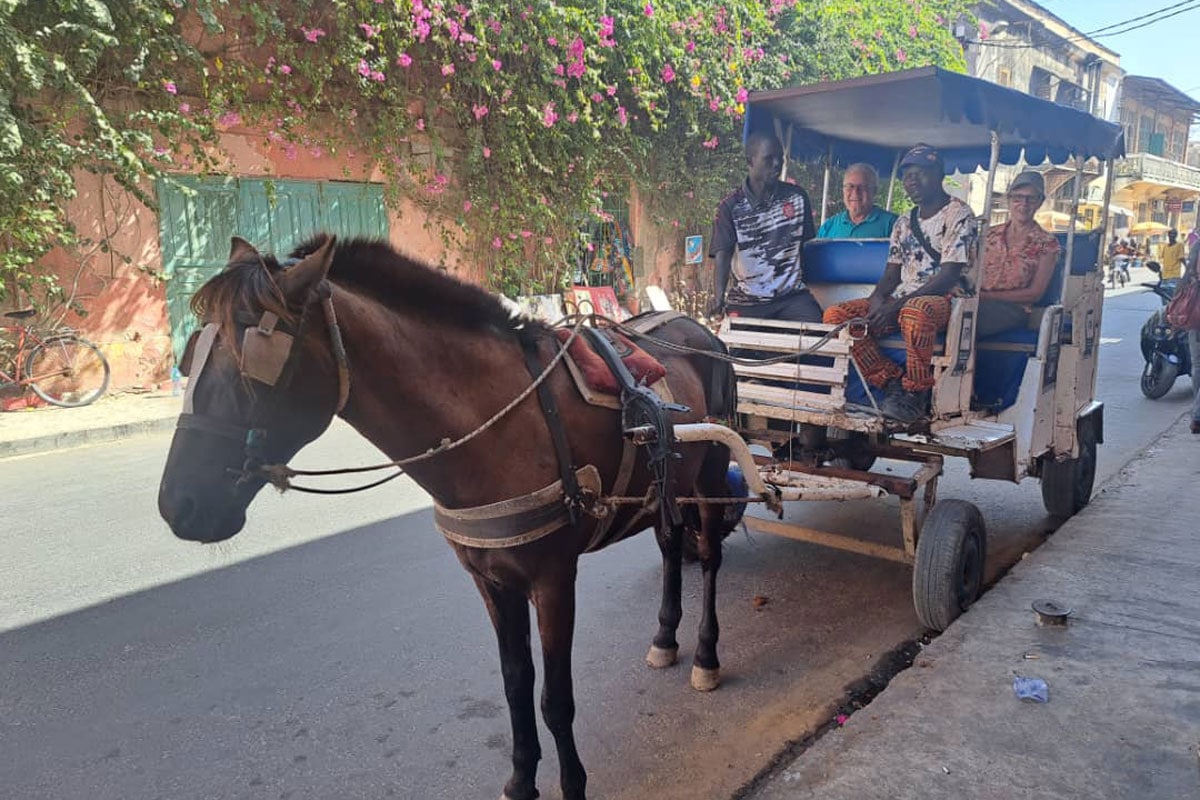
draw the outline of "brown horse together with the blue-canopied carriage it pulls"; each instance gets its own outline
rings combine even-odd
[[[775,130],[793,156],[823,156],[827,169],[890,163],[894,179],[899,152],[917,140],[941,149],[952,167],[986,166],[984,222],[1002,162],[1022,152],[1031,164],[1073,161],[1078,204],[1085,163],[1104,160],[1111,174],[1121,155],[1114,125],[938,70],[752,95],[746,126]],[[654,528],[664,575],[647,661],[668,667],[678,658],[684,541],[694,536],[703,608],[691,680],[712,690],[720,676],[722,521],[737,503],[778,510],[792,500],[900,498],[902,549],[767,519],[754,524],[913,563],[917,610],[935,628],[974,600],[986,548],[973,506],[935,504],[944,457],[967,458],[977,477],[1040,477],[1056,515],[1087,503],[1103,437],[1103,409],[1092,398],[1102,237],[1103,230],[1068,231],[1058,277],[1030,330],[976,341],[977,299],[968,293],[954,301],[935,357],[932,419],[913,427],[883,419],[856,384],[850,327],[739,319],[722,343],[682,314],[635,319],[620,330],[665,368],[654,392],[619,356],[612,360],[616,348],[586,320],[553,330],[514,318],[478,287],[384,242],[314,236],[277,259],[234,239],[229,264],[193,301],[204,327],[181,363],[190,380],[160,511],[181,539],[227,540],[242,529],[263,487],[284,488],[306,474],[287,467],[292,457],[335,416],[347,420],[394,461],[307,474],[402,468],[433,498],[438,529],[487,607],[512,722],[512,775],[503,796],[538,796],[533,604],[541,709],[562,793],[582,800],[571,684],[581,554]],[[827,303],[864,294],[882,266],[880,242],[816,242],[805,253],[808,282]],[[619,399],[592,397],[578,380],[578,365],[572,369],[566,356],[582,338],[605,355]],[[781,357],[731,369],[731,347]],[[731,457],[749,498],[730,497]],[[916,470],[900,477],[864,469],[877,457],[912,462]]]

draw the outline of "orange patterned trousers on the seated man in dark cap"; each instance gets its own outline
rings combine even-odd
[[[870,313],[871,301],[866,297],[851,300],[826,309],[824,321],[840,325],[856,317]],[[904,387],[911,392],[934,387],[934,345],[937,333],[950,321],[950,301],[936,295],[906,300],[900,307],[899,331],[907,350],[905,369],[880,350],[877,337],[898,330],[889,325],[883,330],[871,330],[870,336],[851,344],[850,351],[863,371],[863,377],[872,386],[883,387],[894,378],[902,378]]]

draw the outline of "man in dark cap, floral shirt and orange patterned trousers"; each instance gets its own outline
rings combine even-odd
[[[866,381],[886,392],[881,410],[900,422],[929,414],[934,345],[950,319],[950,296],[977,234],[974,215],[942,187],[946,168],[936,150],[918,144],[900,160],[905,193],[917,204],[896,219],[888,265],[870,297],[828,308],[824,321],[865,318],[868,335],[851,344]],[[899,330],[907,359],[901,368],[880,350],[878,337]]]

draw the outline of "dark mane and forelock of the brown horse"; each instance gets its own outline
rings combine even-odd
[[[326,240],[328,234],[317,234],[292,251],[289,258],[314,253]],[[199,319],[221,325],[223,332],[232,331],[238,321],[257,320],[264,311],[295,321],[276,282],[283,269],[269,254],[233,261],[196,293],[192,311]],[[398,253],[385,241],[340,240],[329,276],[334,283],[394,311],[469,331],[530,336],[546,327],[528,317],[514,317],[494,295]]]

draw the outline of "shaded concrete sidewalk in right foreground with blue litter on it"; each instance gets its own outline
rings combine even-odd
[[[754,800],[1200,798],[1200,437],[1175,425]],[[1074,609],[1039,627],[1037,600]],[[1049,702],[1020,700],[1014,675]]]

